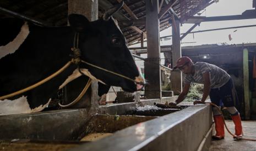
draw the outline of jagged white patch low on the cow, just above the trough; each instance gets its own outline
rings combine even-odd
[[[45,105],[31,109],[26,97],[27,96],[21,96],[15,100],[0,100],[0,115],[40,112],[46,106],[48,106],[51,101],[50,98],[50,100]]]

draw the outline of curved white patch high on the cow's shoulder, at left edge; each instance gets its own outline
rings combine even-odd
[[[9,42],[7,45],[0,47],[0,59],[8,54],[13,54],[16,50],[18,50],[28,35],[29,25],[28,22],[25,22],[16,38],[12,42]]]

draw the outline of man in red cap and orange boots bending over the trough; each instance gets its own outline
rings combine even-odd
[[[211,65],[210,63],[193,63],[192,60],[186,56],[180,57],[176,63],[177,64],[173,69],[178,68],[185,74],[184,88],[177,100],[169,103],[169,105],[176,106],[178,103],[182,102],[188,94],[191,83],[204,84],[203,97],[201,100],[194,101],[194,104],[204,103],[208,95],[210,95],[211,102],[217,106],[220,106],[221,103],[223,103],[235,123],[235,136],[238,138],[234,137],[234,140],[241,140],[243,135],[241,118],[235,108],[237,95],[230,75],[220,67]],[[212,136],[212,139],[222,140],[225,137],[224,121],[222,120],[221,113],[219,113],[214,106],[213,115],[216,135]]]

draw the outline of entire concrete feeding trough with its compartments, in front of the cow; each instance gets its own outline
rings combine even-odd
[[[154,116],[146,112],[141,115],[147,116],[138,116],[138,108],[145,111],[151,105],[151,110],[157,111],[152,108],[154,102],[175,99],[109,104],[100,106],[92,116],[89,109],[0,116],[1,147],[35,149],[45,144],[47,149],[58,150],[196,150],[209,146],[210,106],[175,111],[160,108],[150,113]],[[129,112],[132,114],[127,115]]]

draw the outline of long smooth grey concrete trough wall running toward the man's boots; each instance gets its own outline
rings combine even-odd
[[[200,104],[115,132],[70,150],[207,150],[211,107]]]

